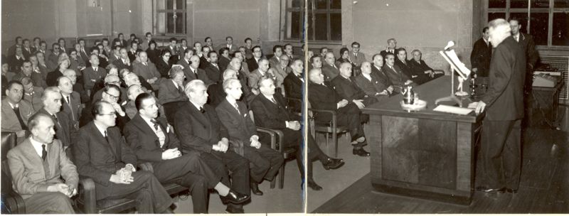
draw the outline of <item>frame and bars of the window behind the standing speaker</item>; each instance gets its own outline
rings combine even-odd
[[[505,13],[505,18],[506,20],[508,20],[510,18],[510,14],[511,13],[528,13],[528,8],[511,8],[511,0],[505,0],[506,1],[506,6],[504,8],[489,8],[489,1],[490,0],[484,0],[484,7],[483,7],[483,15],[482,15],[482,21],[484,21],[484,23],[488,23],[488,15],[489,13]],[[538,49],[569,49],[569,45],[553,45],[553,15],[555,13],[565,13],[565,11],[569,11],[569,7],[568,8],[555,8],[555,0],[549,0],[549,6],[548,8],[531,8],[531,4],[530,6],[528,6],[529,12],[530,12],[530,17],[531,17],[531,13],[548,13],[548,33],[547,33],[547,45],[536,45],[536,48]],[[528,21],[531,20],[531,18],[528,17]],[[528,23],[521,23],[522,26],[526,27],[526,32],[529,33],[531,32],[531,23],[530,25],[528,25]]]

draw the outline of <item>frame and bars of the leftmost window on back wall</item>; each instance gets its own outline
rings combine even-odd
[[[183,4],[183,9],[178,9],[178,6],[176,5],[176,0],[163,0],[164,3],[167,5],[167,1],[172,1],[172,7],[173,9],[158,9],[158,4],[160,0],[153,0],[154,1],[154,9],[152,10],[152,12],[154,13],[153,17],[154,17],[154,35],[159,35],[159,36],[186,36],[186,34],[188,33],[188,29],[186,28],[188,26],[187,23],[187,0],[184,0],[184,4]],[[166,6],[164,6],[166,8]],[[159,14],[164,13],[164,23],[159,23],[158,21],[158,16]],[[182,33],[176,33],[176,30],[178,29],[177,25],[176,25],[176,21],[174,21],[174,33],[169,33],[168,32],[168,13],[174,13],[174,16],[176,16],[176,13],[182,13],[181,19],[183,21],[182,23]],[[176,18],[178,18],[176,16]],[[159,32],[159,25],[164,25],[164,29],[165,32],[161,33]]]

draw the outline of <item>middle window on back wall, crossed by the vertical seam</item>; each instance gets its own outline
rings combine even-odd
[[[285,39],[302,41],[304,33],[309,41],[342,40],[341,0],[286,0]],[[308,28],[304,29],[304,12],[308,9]],[[306,30],[306,31],[304,31]]]

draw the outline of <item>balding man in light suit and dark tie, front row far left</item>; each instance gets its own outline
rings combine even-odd
[[[53,137],[53,121],[46,114],[36,114],[28,125],[31,136],[7,155],[12,185],[24,199],[26,213],[75,213],[70,198],[77,194],[79,175]]]

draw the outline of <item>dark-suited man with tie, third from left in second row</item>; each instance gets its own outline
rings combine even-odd
[[[68,77],[58,78],[58,89],[61,91],[62,107],[61,112],[68,115],[71,125],[79,129],[79,119],[83,106],[78,92],[73,91],[73,84]]]

